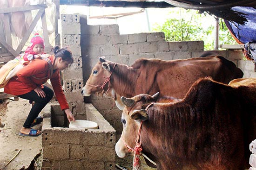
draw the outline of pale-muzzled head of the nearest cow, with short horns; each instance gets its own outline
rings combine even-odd
[[[145,109],[150,103],[157,101],[158,96],[159,93],[153,96],[139,94],[132,98],[121,97],[125,108],[121,117],[123,124],[122,135],[115,145],[115,152],[118,157],[125,157],[127,154],[132,154],[128,152],[128,148],[125,144],[134,148],[140,122],[148,120],[148,113]]]

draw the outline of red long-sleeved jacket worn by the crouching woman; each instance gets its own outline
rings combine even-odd
[[[52,63],[54,55],[48,57]],[[44,84],[49,78],[54,88],[54,93],[60,103],[61,109],[67,109],[67,99],[61,86],[60,71],[54,70],[52,77],[50,76],[49,64],[43,59],[32,60],[24,68],[20,69],[17,76],[10,79],[4,87],[4,92],[7,94],[21,95],[34,90],[37,86]],[[34,78],[36,77],[36,78]]]

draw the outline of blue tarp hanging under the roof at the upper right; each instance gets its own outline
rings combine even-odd
[[[247,42],[256,43],[256,9],[253,7],[235,6],[233,10],[246,14],[248,22],[245,25],[239,25],[225,20],[229,31],[239,40],[239,44]]]

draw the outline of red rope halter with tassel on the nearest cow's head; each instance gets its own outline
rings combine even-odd
[[[154,104],[155,104],[155,102],[150,103],[145,109],[146,112],[148,111],[148,108]],[[121,135],[121,139],[123,140],[124,145],[128,148],[128,151],[134,152],[134,157],[135,157],[134,162],[133,162],[134,167],[137,166],[138,164],[140,164],[140,157],[139,157],[140,155],[143,155],[146,159],[148,159],[149,162],[151,162],[152,164],[154,164],[156,166],[154,161],[152,161],[149,157],[147,157],[144,153],[142,153],[142,146],[141,146],[141,140],[140,140],[142,123],[143,123],[143,121],[141,121],[139,130],[138,130],[138,134],[137,134],[137,138],[135,139],[135,147],[134,148],[132,148],[126,144],[122,135]]]

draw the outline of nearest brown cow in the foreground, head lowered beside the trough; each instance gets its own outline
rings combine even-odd
[[[249,119],[255,121],[256,99],[248,101],[243,90],[206,78],[195,82],[182,101],[174,103],[155,103],[157,96],[148,94],[122,97],[127,107],[121,117],[123,132],[115,145],[116,154],[125,157],[130,153],[125,143],[135,147],[143,121],[142,152],[158,170],[248,168],[251,140],[247,132],[253,129],[250,138],[256,139],[256,126],[249,124]],[[249,91],[256,96],[255,88]]]

